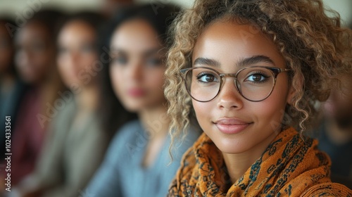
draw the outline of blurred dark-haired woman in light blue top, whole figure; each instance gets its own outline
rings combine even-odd
[[[173,15],[172,6],[158,10],[158,15],[150,5],[125,8],[107,25],[107,36],[102,35],[111,56],[103,87],[111,87],[138,120],[114,136],[84,196],[165,196],[182,154],[199,136],[196,126],[187,128],[183,144],[176,145],[177,152],[171,150],[170,163],[170,117],[163,84],[165,33]]]

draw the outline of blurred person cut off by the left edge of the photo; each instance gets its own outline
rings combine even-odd
[[[18,78],[13,63],[15,47],[13,46],[13,34],[8,31],[8,27],[15,26],[15,23],[8,18],[0,18],[0,158],[4,160],[6,139],[11,141],[11,135],[14,132],[6,132],[5,128],[11,131],[12,125],[15,125],[15,119],[18,112],[18,103],[25,86]],[[6,125],[5,117],[11,117],[10,124]],[[5,170],[4,170],[5,171]],[[2,174],[3,172],[0,171]],[[1,175],[2,176],[2,175]]]

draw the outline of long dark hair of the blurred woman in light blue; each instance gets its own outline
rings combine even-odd
[[[117,11],[116,15],[104,25],[101,29],[101,39],[99,41],[101,49],[101,58],[106,61],[103,64],[102,77],[101,80],[101,114],[106,120],[106,127],[111,127],[114,125],[109,125],[108,122],[125,122],[133,118],[137,118],[134,113],[127,113],[124,117],[121,117],[120,110],[125,109],[121,106],[120,101],[115,96],[113,91],[113,86],[111,84],[111,77],[109,75],[109,64],[111,58],[109,58],[111,37],[114,30],[127,20],[132,19],[143,19],[153,27],[158,33],[159,39],[167,46],[167,31],[168,26],[172,22],[175,13],[178,9],[175,6],[168,5],[151,5],[144,6],[130,6]],[[156,9],[158,8],[158,9]],[[120,110],[119,110],[120,109]],[[109,129],[111,129],[109,128]]]

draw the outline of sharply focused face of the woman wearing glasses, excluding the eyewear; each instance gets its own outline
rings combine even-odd
[[[258,58],[259,57],[259,58]],[[265,57],[265,58],[263,58]],[[206,58],[208,61],[194,61]],[[285,68],[277,46],[251,25],[215,22],[203,31],[192,55],[193,67],[206,66],[220,73],[236,73],[247,66]],[[277,76],[272,94],[263,101],[248,101],[225,77],[218,96],[201,103],[192,99],[197,120],[223,153],[251,153],[266,148],[275,138],[291,96],[287,73]]]

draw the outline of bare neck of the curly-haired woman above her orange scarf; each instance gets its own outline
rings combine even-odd
[[[250,150],[242,153],[222,153],[232,184],[243,176],[249,167],[251,167],[251,165],[253,165],[253,163],[260,158],[272,140],[275,139],[275,136],[277,136],[277,132],[273,132],[264,141],[261,141]]]

